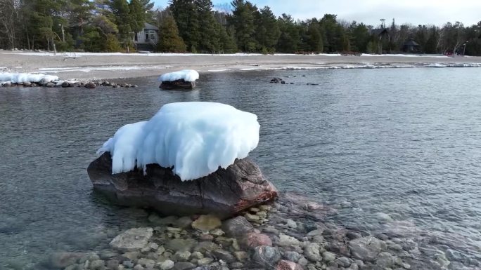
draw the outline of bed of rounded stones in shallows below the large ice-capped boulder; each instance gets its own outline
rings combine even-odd
[[[211,215],[148,216],[150,227],[119,234],[108,250],[53,254],[46,269],[447,269],[415,259],[418,243],[326,222],[332,208],[286,198],[221,221]],[[451,268],[449,268],[451,269]]]

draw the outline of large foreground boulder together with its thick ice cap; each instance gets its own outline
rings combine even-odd
[[[258,142],[255,114],[214,102],[171,103],[117,130],[87,170],[94,188],[122,205],[228,217],[277,196],[246,158]]]

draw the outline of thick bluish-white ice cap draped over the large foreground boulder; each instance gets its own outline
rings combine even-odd
[[[122,126],[97,153],[110,151],[112,173],[158,163],[193,180],[245,158],[259,142],[257,116],[215,102],[165,104],[149,121]]]

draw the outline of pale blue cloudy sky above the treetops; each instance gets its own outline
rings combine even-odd
[[[167,0],[153,0],[156,6],[167,6]],[[230,0],[212,0],[214,5]],[[397,24],[444,25],[463,22],[474,25],[481,21],[481,0],[252,0],[257,7],[269,6],[276,15],[287,13],[296,19],[321,18],[325,13],[337,14],[344,20],[379,25],[379,19]]]

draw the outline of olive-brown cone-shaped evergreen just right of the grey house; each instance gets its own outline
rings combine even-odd
[[[186,44],[179,36],[179,29],[172,16],[164,18],[159,28],[159,41],[157,50],[165,53],[184,53]]]

